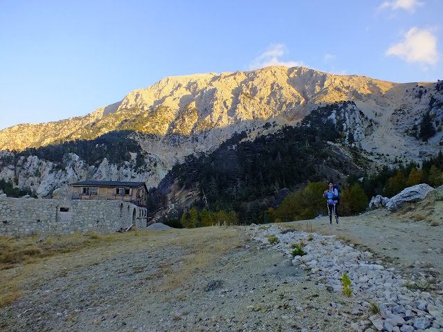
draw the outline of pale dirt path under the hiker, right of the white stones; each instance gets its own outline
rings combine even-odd
[[[440,220],[440,209],[440,205],[435,206],[431,215],[434,222]],[[385,264],[397,266],[405,273],[427,273],[442,278],[443,223],[432,226],[429,219],[415,221],[408,214],[399,216],[387,210],[342,217],[338,225],[329,225],[327,217],[310,222],[315,232],[336,234],[338,238],[361,244],[383,257]],[[300,221],[292,224],[296,223]]]

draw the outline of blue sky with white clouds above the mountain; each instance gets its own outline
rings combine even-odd
[[[442,0],[0,0],[0,129],[84,116],[166,76],[306,66],[443,80]]]

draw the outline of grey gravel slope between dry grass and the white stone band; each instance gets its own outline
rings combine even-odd
[[[246,237],[189,283],[162,289],[163,264],[174,273],[186,254],[164,246],[107,259],[91,253],[82,264],[73,257],[77,267],[24,285],[1,309],[2,331],[351,331],[347,298]]]

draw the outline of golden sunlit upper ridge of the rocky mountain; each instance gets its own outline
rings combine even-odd
[[[165,77],[146,89],[131,91],[122,101],[100,107],[87,116],[43,124],[18,124],[3,129],[0,131],[0,149],[21,150],[56,140],[78,139],[80,135],[76,131],[82,127],[93,126],[98,120],[134,107],[152,113],[162,106],[163,117],[170,124],[148,128],[145,132],[190,134],[194,133],[192,129],[201,131],[241,120],[266,120],[275,116],[283,116],[289,122],[300,120],[315,104],[361,99],[369,94],[383,95],[396,85],[398,83],[360,75],[332,75],[305,67],[283,66]],[[186,109],[197,109],[192,127],[179,125],[185,122],[183,117],[187,114],[183,111]],[[124,114],[118,118],[120,122],[124,119]],[[118,123],[109,124],[99,133],[116,129]],[[28,138],[24,137],[24,132]]]

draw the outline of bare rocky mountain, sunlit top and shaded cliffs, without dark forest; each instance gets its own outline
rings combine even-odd
[[[245,131],[248,139],[271,134],[285,125],[296,126],[318,107],[343,101],[353,103],[343,129],[347,140],[352,137],[347,142],[352,141],[377,162],[419,160],[440,149],[441,85],[399,84],[284,66],[165,77],[87,116],[19,124],[0,131],[0,149],[19,151],[132,131],[128,137],[136,140],[141,150],[130,151],[131,157],[120,165],[109,163],[108,158],[91,165],[73,152],[75,156],[66,155],[63,167],[56,169],[51,160],[30,155],[12,158],[10,152],[3,151],[0,178],[31,187],[40,196],[63,195],[69,181],[85,178],[136,179],[156,186],[186,156],[213,151],[236,132]],[[425,142],[419,135],[426,115],[437,133]],[[107,149],[107,145],[93,145],[93,149],[101,148]],[[145,165],[136,167],[137,159],[139,164],[143,159]],[[48,175],[55,171],[61,172],[59,176]]]

